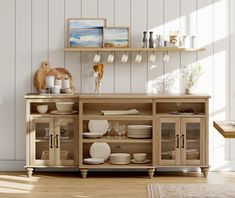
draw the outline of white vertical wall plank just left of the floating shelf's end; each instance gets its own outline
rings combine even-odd
[[[49,0],[49,63],[64,66],[64,0]]]

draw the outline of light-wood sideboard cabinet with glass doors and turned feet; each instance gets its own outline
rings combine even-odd
[[[208,163],[208,95],[185,94],[74,94],[66,96],[27,94],[27,159],[28,176],[34,168],[79,168],[83,178],[90,169],[143,169],[150,178],[160,167],[200,167],[204,177]],[[55,103],[73,101],[74,115],[54,115]],[[46,114],[37,113],[37,105],[48,104]],[[137,109],[138,115],[101,115],[101,110]],[[189,111],[178,113],[179,110]],[[190,113],[193,110],[193,113]],[[151,138],[108,137],[87,139],[89,120],[108,120],[126,125],[152,126]],[[93,143],[105,142],[111,153],[147,153],[146,164],[88,165]]]

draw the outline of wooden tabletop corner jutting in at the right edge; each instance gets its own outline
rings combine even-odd
[[[235,138],[235,121],[214,121],[213,126],[225,138]]]

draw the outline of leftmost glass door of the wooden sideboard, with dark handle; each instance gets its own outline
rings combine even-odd
[[[38,166],[54,164],[53,120],[50,118],[33,119],[30,129],[31,164]]]

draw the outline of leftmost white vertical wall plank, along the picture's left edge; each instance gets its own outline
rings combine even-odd
[[[0,1],[1,93],[0,99],[0,160],[14,159],[15,148],[15,1]]]

